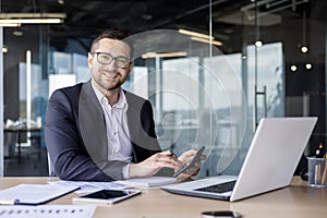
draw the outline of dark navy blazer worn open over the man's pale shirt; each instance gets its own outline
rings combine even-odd
[[[153,109],[148,100],[124,93],[129,104],[132,161],[140,162],[160,152]],[[122,167],[128,162],[108,161],[105,116],[90,81],[51,95],[46,111],[45,138],[52,175],[81,181],[123,179]]]

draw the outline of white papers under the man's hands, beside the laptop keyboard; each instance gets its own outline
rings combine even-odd
[[[167,184],[175,183],[175,178],[169,177],[144,177],[144,178],[131,178],[123,181],[117,181],[116,183],[121,183],[125,185],[136,186],[136,187],[156,187],[164,186]]]

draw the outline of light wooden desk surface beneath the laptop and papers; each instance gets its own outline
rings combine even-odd
[[[0,189],[20,183],[46,183],[56,178],[0,178]],[[72,204],[76,196],[71,193],[49,204]],[[205,210],[235,210],[245,218],[311,218],[327,216],[327,189],[310,187],[300,178],[293,178],[291,185],[274,192],[229,203],[170,194],[160,189],[143,189],[142,194],[112,206],[98,206],[97,217],[187,217],[201,218]]]

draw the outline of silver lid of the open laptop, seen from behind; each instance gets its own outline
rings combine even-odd
[[[237,201],[287,186],[317,118],[264,118],[230,197]]]

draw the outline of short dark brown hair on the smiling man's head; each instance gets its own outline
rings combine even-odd
[[[134,48],[132,41],[128,38],[128,34],[119,28],[108,28],[100,33],[92,43],[90,45],[90,52],[93,53],[95,47],[99,43],[99,40],[104,38],[110,38],[116,40],[121,40],[130,47],[130,58],[133,59],[134,56]]]

